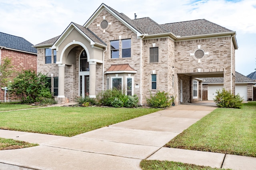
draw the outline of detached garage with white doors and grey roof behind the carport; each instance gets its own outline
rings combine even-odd
[[[202,93],[203,100],[213,100],[216,91],[224,88],[223,77],[204,78]],[[236,93],[239,94],[244,101],[253,100],[253,85],[256,84],[252,79],[236,72]],[[207,96],[206,96],[207,95]]]

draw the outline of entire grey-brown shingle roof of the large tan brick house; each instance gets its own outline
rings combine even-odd
[[[182,21],[182,22],[175,22],[175,23],[166,23],[166,24],[161,24],[161,25],[156,23],[155,21],[153,21],[152,19],[150,19],[148,17],[132,20],[125,14],[117,12],[110,6],[107,6],[106,4],[101,4],[101,6],[102,5],[106,6],[109,10],[111,10],[114,14],[116,14],[118,17],[120,17],[126,23],[131,25],[138,32],[148,34],[148,35],[171,32],[177,36],[182,37],[182,36],[195,36],[195,35],[204,35],[204,34],[213,34],[213,33],[225,33],[225,32],[231,31],[230,29],[227,29],[225,27],[222,27],[216,23],[212,23],[205,19]],[[78,25],[78,24],[76,24],[76,25]],[[83,26],[79,25],[79,28],[81,30],[85,31],[86,28],[84,27],[84,29],[83,29],[82,27]],[[90,34],[92,33],[90,30],[88,30],[88,31],[90,32]],[[98,39],[97,41],[101,41],[101,43],[104,43],[98,37],[97,37],[97,39]],[[92,38],[92,40],[95,40],[95,39]],[[38,45],[44,45],[44,43],[48,42],[48,41],[50,41],[50,40],[44,41],[43,43],[40,43]],[[104,44],[106,44],[106,43],[104,43]],[[36,45],[36,46],[38,46],[38,45]]]

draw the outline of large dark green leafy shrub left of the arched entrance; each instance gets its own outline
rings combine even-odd
[[[36,74],[32,70],[24,70],[14,78],[8,90],[22,103],[41,102],[42,98],[52,98],[46,78],[47,76],[42,73]]]

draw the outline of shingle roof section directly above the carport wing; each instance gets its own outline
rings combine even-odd
[[[165,29],[169,29],[170,32],[175,35],[189,36],[189,35],[202,35],[210,33],[222,33],[230,32],[230,29],[222,27],[216,23],[212,23],[205,19],[183,21],[175,23],[161,24]]]

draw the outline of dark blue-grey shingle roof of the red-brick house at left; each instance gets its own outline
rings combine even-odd
[[[0,46],[14,50],[20,50],[30,53],[37,53],[37,50],[32,47],[32,43],[22,37],[0,32]]]

